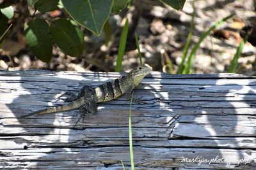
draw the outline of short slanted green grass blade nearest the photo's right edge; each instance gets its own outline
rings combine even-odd
[[[228,69],[228,73],[235,73],[236,71],[236,67],[237,67],[237,62],[238,62],[238,58],[240,57],[242,50],[244,48],[244,44],[246,43],[247,39],[248,39],[248,33],[249,31],[246,32],[246,36],[243,38],[243,40],[241,41],[240,45],[238,46],[237,50],[236,50],[236,54],[230,64],[230,67]]]

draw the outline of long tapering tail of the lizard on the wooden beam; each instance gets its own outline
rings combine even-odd
[[[77,101],[81,101],[81,99],[80,100],[78,99]],[[46,108],[44,110],[38,110],[38,111],[35,111],[28,115],[22,115],[21,117],[30,117],[32,115],[44,115],[44,114],[48,114],[48,113],[74,110],[74,109],[80,108],[83,105],[83,102],[77,102],[77,101],[68,103],[68,104],[63,104],[61,106],[54,106],[54,107]]]

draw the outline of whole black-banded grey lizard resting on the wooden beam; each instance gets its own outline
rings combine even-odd
[[[151,72],[152,67],[148,64],[143,64],[132,69],[126,76],[108,81],[98,87],[92,88],[88,85],[84,85],[76,99],[72,99],[72,102],[68,104],[45,108],[28,115],[22,115],[22,117],[75,110],[77,108],[80,108],[83,113],[95,113],[97,112],[97,103],[111,101],[123,94],[125,94],[128,99],[131,99],[131,94],[134,88],[137,87],[143,78]],[[132,102],[138,102],[138,100],[134,99]]]

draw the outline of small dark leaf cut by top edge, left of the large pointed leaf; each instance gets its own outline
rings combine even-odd
[[[58,9],[59,0],[38,0],[35,3],[35,10],[48,12]]]

